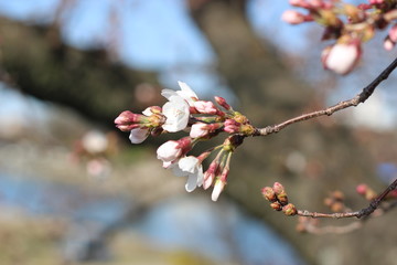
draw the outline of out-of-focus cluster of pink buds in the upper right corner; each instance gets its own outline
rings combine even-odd
[[[376,30],[389,28],[384,47],[391,50],[397,43],[397,2],[391,0],[368,0],[354,6],[340,0],[290,0],[291,6],[307,10],[300,13],[288,10],[282,20],[291,24],[314,21],[323,25],[322,40],[336,40],[323,50],[321,60],[324,68],[337,74],[347,74],[358,63],[363,42],[371,40]],[[390,26],[389,26],[390,25]]]

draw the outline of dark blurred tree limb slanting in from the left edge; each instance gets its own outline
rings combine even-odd
[[[64,44],[56,26],[0,18],[0,36],[2,80],[14,83],[23,93],[72,107],[107,126],[112,126],[120,112],[143,107],[133,95],[137,85],[157,84],[157,74],[112,62],[103,47],[79,51]],[[151,103],[157,100],[160,96]]]

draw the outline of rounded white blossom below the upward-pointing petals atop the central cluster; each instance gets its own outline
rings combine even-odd
[[[190,117],[187,103],[180,96],[170,97],[162,107],[162,114],[167,117],[162,125],[164,130],[175,132],[186,128]]]

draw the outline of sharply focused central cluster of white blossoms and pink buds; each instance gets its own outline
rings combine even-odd
[[[223,97],[215,96],[215,105],[198,99],[187,84],[179,82],[179,85],[180,91],[161,92],[168,99],[162,107],[148,107],[142,114],[125,110],[115,119],[115,124],[120,130],[130,132],[132,144],[142,142],[149,135],[190,130],[189,136],[161,145],[157,157],[163,162],[163,168],[171,169],[175,176],[187,177],[186,191],[214,186],[212,200],[216,201],[226,186],[234,150],[256,129]],[[197,157],[187,155],[198,141],[210,140],[221,132],[229,135],[222,145]],[[203,171],[203,160],[214,151],[217,151],[215,159]]]

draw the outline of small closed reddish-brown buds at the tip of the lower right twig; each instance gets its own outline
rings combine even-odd
[[[288,202],[288,195],[279,182],[275,182],[273,187],[265,187],[262,195],[270,202],[270,206],[276,211],[282,211],[286,215],[291,216],[298,213],[296,206]]]

